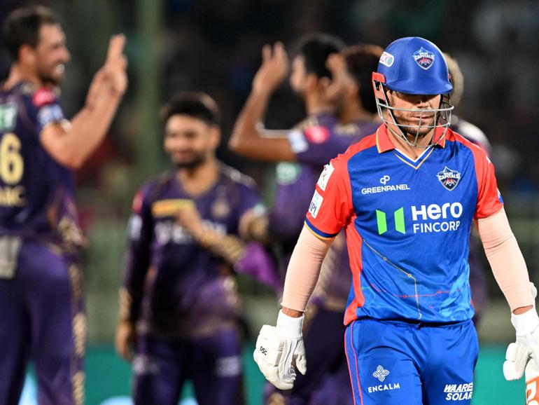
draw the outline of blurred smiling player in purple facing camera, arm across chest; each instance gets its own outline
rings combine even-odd
[[[134,198],[116,347],[130,360],[136,345],[137,405],[177,404],[188,378],[200,405],[241,404],[232,266],[272,280],[262,247],[236,236],[239,217],[259,195],[250,178],[216,159],[221,132],[213,99],[179,95],[164,118],[165,151],[176,170],[148,181]]]

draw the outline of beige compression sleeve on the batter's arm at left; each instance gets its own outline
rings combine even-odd
[[[297,238],[284,282],[283,307],[304,311],[318,281],[325,254],[333,239],[322,240],[303,226]]]

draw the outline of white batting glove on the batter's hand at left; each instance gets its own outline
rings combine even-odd
[[[307,371],[302,336],[304,318],[304,315],[290,317],[281,310],[276,326],[264,325],[258,334],[253,357],[265,378],[279,390],[290,390],[293,387],[293,363],[300,373]]]

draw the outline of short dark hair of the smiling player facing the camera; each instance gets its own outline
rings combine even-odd
[[[214,99],[204,92],[181,92],[162,108],[161,117],[165,123],[177,114],[198,118],[208,125],[221,125],[221,113]]]

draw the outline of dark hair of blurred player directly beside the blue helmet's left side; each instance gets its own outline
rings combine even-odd
[[[373,114],[378,110],[372,94],[372,72],[377,70],[383,52],[381,47],[371,44],[350,46],[344,50],[346,69],[358,85],[360,102]]]

